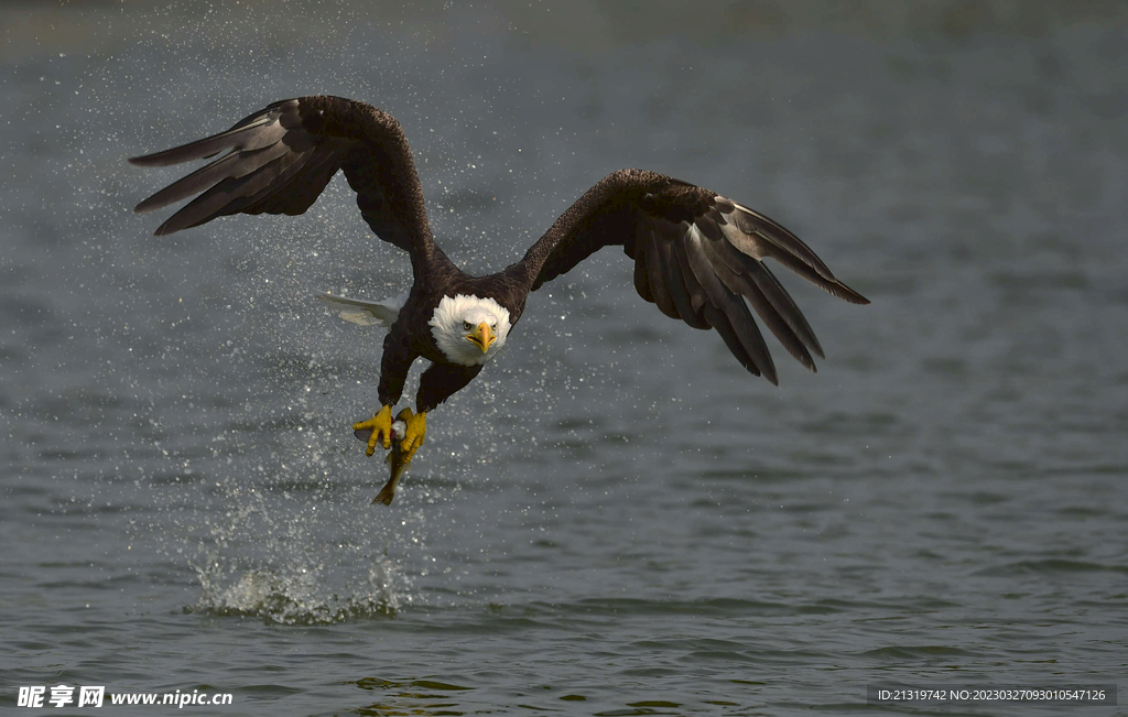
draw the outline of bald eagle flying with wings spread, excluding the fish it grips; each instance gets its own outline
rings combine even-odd
[[[390,448],[393,407],[416,358],[431,362],[400,441],[404,461],[423,443],[426,414],[482,371],[509,340],[536,291],[594,251],[623,247],[646,301],[698,329],[714,328],[744,369],[778,383],[749,307],[795,358],[814,371],[814,333],[776,277],[772,258],[853,303],[869,301],[834,277],[795,234],[764,214],[702,187],[653,171],[620,169],[573,204],[525,257],[490,276],[470,276],[431,234],[423,189],[399,123],[371,105],[341,97],[285,99],[227,132],[129,161],[141,167],[218,159],[136,205],[149,212],[195,196],[156,234],[217,216],[301,214],[343,169],[361,214],[377,237],[407,251],[407,294],[369,302],[321,294],[342,316],[388,327],[380,362],[380,408],[353,425],[370,432],[368,455]]]

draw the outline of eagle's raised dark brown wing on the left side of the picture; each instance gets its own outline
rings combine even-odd
[[[136,205],[150,212],[197,195],[157,229],[196,227],[226,214],[301,214],[344,169],[364,220],[385,241],[416,257],[433,248],[415,162],[395,117],[343,97],[284,99],[227,132],[164,152],[134,157],[164,167],[215,157]]]

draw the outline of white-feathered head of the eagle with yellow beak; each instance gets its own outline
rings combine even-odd
[[[443,296],[429,321],[439,351],[451,363],[481,365],[501,351],[509,336],[509,309],[493,299]]]

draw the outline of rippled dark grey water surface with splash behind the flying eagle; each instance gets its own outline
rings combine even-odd
[[[1126,714],[866,706],[1125,687],[1126,25],[783,7],[0,11],[0,703]],[[174,175],[125,157],[308,92],[400,118],[473,271],[641,166],[777,218],[873,304],[783,277],[828,356],[776,347],[776,389],[606,251],[369,505],[386,469],[349,426],[381,334],[312,293],[400,293],[406,258],[343,182],[162,239],[129,212]]]

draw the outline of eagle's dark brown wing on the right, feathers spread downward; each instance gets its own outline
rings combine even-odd
[[[808,369],[814,371],[811,353],[823,354],[763,259],[779,262],[839,299],[870,303],[767,216],[708,189],[638,169],[616,171],[589,189],[519,266],[536,290],[607,246],[622,246],[634,259],[634,284],[643,299],[694,328],[715,328],[744,369],[773,383],[778,383],[775,364],[749,306]]]

